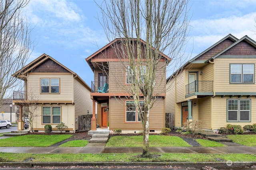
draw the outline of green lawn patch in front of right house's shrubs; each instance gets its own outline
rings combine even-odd
[[[239,143],[248,147],[256,146],[256,135],[227,135],[228,139],[232,139],[234,143]]]

